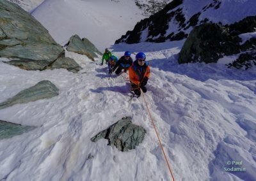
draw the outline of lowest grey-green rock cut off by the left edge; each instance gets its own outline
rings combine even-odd
[[[12,138],[13,136],[26,133],[32,129],[35,129],[35,126],[22,126],[20,124],[0,120],[0,140]]]

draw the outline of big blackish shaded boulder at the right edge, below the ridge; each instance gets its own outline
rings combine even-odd
[[[250,23],[248,23],[250,22]],[[241,28],[243,25],[248,27]],[[251,68],[255,61],[256,36],[252,36],[244,43],[241,35],[256,31],[256,16],[246,17],[243,20],[231,25],[202,24],[193,29],[185,41],[179,54],[179,63],[188,62],[217,62],[225,55],[240,54],[228,66],[236,68]],[[249,37],[249,36],[248,36]]]

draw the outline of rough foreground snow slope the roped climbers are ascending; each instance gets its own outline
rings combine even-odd
[[[255,180],[255,68],[178,64],[183,43],[120,44],[113,54],[147,54],[152,73],[145,98],[175,180]],[[60,89],[55,98],[0,110],[1,120],[38,126],[0,140],[0,179],[169,180],[143,98],[128,101],[127,74],[108,80],[106,65],[83,55],[66,55],[83,67],[80,73],[24,71],[0,62],[0,101],[40,80],[50,80]],[[107,140],[90,141],[124,116],[132,116],[134,124],[147,130],[135,150],[119,152]],[[89,154],[92,159],[87,159]],[[246,171],[225,171],[227,161],[243,161]]]

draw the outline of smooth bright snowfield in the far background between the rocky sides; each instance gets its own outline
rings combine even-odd
[[[78,34],[89,38],[99,50],[109,47],[122,33],[142,18],[133,0],[58,1],[47,0],[32,15],[61,45]]]

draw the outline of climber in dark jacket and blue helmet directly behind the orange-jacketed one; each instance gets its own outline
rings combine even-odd
[[[121,73],[122,69],[124,69],[124,72],[126,72],[129,67],[132,65],[132,57],[131,57],[131,52],[129,51],[126,51],[124,53],[124,56],[122,56],[118,62],[116,62],[116,65],[115,67],[113,68],[113,71],[115,71],[116,74],[119,74]]]

